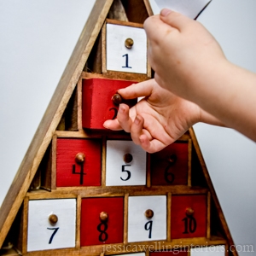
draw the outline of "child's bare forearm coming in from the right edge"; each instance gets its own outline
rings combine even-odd
[[[190,100],[256,141],[256,75],[223,61],[199,83]]]

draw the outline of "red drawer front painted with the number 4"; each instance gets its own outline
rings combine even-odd
[[[83,164],[79,164],[75,160],[78,153],[85,155]],[[102,143],[100,140],[58,138],[56,186],[100,186],[101,163]]]

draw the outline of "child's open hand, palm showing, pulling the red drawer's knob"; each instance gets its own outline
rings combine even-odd
[[[118,90],[118,93],[125,99],[145,98],[131,109],[120,104],[117,119],[107,120],[104,126],[114,131],[131,132],[133,142],[149,153],[160,151],[175,142],[201,119],[212,124],[217,121],[194,103],[161,88],[154,79],[132,84]]]

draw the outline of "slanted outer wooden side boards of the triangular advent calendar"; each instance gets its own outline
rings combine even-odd
[[[148,11],[148,15],[153,15],[148,0],[143,1]],[[67,67],[65,68],[61,80],[56,87],[55,93],[49,102],[49,106],[44,113],[44,117],[38,126],[38,130],[32,139],[32,143],[27,149],[26,155],[20,164],[20,168],[13,183],[11,184],[8,195],[4,199],[3,205],[0,208],[0,247],[2,247],[3,241],[8,235],[9,229],[15,220],[15,216],[20,209],[22,201],[26,197],[26,193],[32,183],[32,179],[35,177],[38,166],[49,147],[49,143],[51,142],[55,130],[60,123],[62,114],[67,107],[67,103],[73,95],[73,90],[79,82],[79,78],[84,69],[84,64],[90,55],[90,51],[96,42],[96,38],[102,29],[103,23],[107,18],[112,4],[113,0],[96,0],[90,17],[81,32],[79,41],[73,50],[73,54],[68,61]],[[224,219],[224,213],[219,205],[218,197],[207,172],[207,166],[203,160],[193,128],[189,129],[189,136],[195,146],[195,151],[200,160],[215,207],[218,209],[218,218],[223,226],[225,236],[227,237],[229,245],[233,245],[234,243],[230,235],[230,230],[228,229]],[[237,255],[237,253],[233,252],[232,255]]]

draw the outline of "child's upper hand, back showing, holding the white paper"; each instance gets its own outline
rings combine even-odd
[[[198,21],[163,9],[144,22],[148,60],[160,86],[177,96],[197,102],[207,81],[224,68],[224,53]]]

